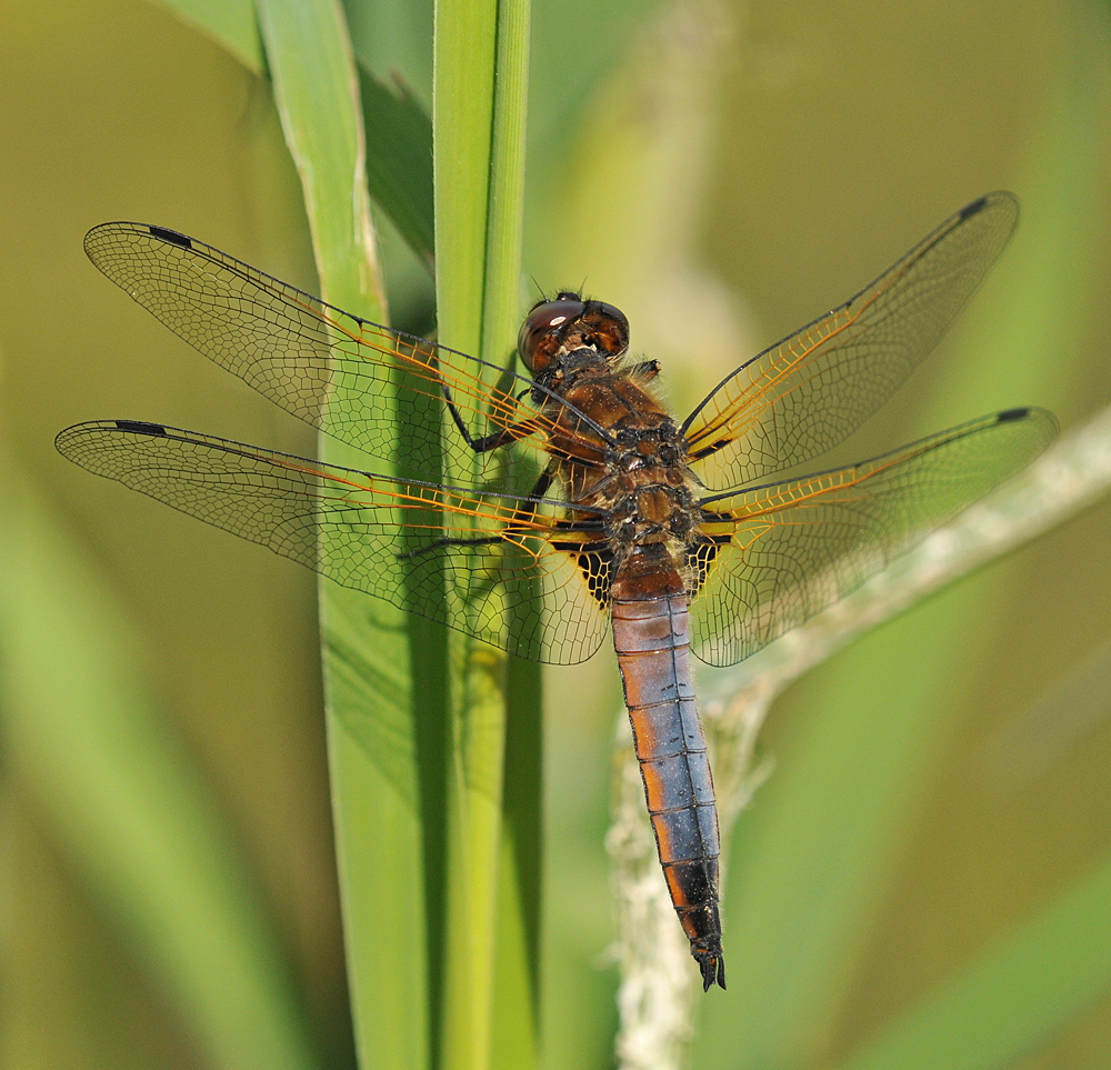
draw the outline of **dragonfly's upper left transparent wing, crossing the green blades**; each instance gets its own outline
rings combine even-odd
[[[508,387],[493,386],[500,368],[368,322],[161,227],[103,223],[86,236],[84,250],[206,357],[287,411],[407,474],[439,479],[441,450],[473,464],[460,436],[444,436],[441,444],[444,388],[473,438],[513,428],[513,438],[544,450],[552,421],[529,399],[530,379],[512,376]],[[526,397],[518,400],[521,391]],[[397,444],[399,421],[408,428],[403,448]]]

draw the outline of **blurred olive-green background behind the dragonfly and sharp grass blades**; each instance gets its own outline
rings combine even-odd
[[[81,250],[98,222],[157,222],[313,289],[269,87],[139,0],[0,11],[0,1060],[202,1068],[239,1044],[277,1066],[268,1033],[290,1066],[350,1067],[313,578],[52,449],[132,418],[312,451]],[[431,4],[348,13],[372,69],[430,102]],[[537,0],[526,273],[622,308],[687,410],[1013,189],[1000,267],[844,457],[1015,404],[1069,428],[1111,400],[1109,59],[1094,3]],[[384,244],[396,324],[428,330],[430,280]],[[1109,521],[1089,510],[777,703],[695,1066],[838,1066],[1107,864]],[[609,651],[546,680],[544,1064],[607,1067],[620,688]],[[224,976],[197,972],[206,949]],[[237,999],[242,1034],[216,1036]],[[1013,1064],[1111,1064],[1111,1000]]]

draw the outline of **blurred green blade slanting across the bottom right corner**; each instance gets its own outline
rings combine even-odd
[[[840,1070],[1003,1070],[1111,991],[1111,858]]]

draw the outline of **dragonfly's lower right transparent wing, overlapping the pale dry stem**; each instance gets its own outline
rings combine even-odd
[[[741,661],[831,606],[1035,458],[1057,423],[1040,409],[984,417],[892,453],[703,503],[692,550],[692,647]],[[700,581],[700,582],[699,582]]]

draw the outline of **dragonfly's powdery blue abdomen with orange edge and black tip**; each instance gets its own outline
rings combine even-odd
[[[703,988],[725,987],[718,917],[718,813],[690,673],[687,593],[661,544],[613,578],[613,644],[660,863]]]

